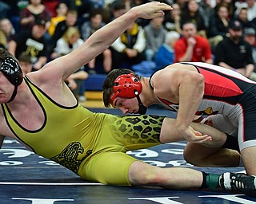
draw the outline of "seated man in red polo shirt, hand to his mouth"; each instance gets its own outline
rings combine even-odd
[[[182,38],[174,45],[175,62],[202,61],[213,63],[210,43],[205,37],[197,34],[193,22],[186,22],[182,26]]]

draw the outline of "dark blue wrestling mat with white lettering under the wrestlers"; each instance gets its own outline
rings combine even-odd
[[[111,108],[90,108],[94,112],[120,114]],[[148,114],[165,116],[165,110],[150,108]],[[186,142],[129,151],[127,154],[158,167],[190,167],[221,174],[243,171],[235,168],[198,168],[186,163],[182,151]],[[256,198],[223,191],[162,190],[151,187],[106,186],[79,179],[72,171],[27,151],[18,142],[5,139],[0,150],[1,204],[251,204]],[[177,175],[178,176],[178,175]]]

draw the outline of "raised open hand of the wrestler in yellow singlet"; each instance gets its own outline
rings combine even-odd
[[[149,2],[140,6],[132,8],[135,12],[138,12],[139,18],[151,19],[161,17],[164,15],[163,10],[172,10],[170,5],[162,2]]]

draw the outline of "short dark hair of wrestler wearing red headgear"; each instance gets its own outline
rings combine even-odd
[[[110,96],[113,93],[113,87],[114,87],[114,80],[121,76],[122,74],[129,74],[132,73],[134,77],[137,77],[140,79],[141,77],[134,73],[130,69],[113,69],[108,75],[106,76],[106,79],[104,80],[102,84],[102,94],[103,94],[103,102],[105,107],[110,107]]]

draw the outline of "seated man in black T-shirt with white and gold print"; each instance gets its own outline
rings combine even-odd
[[[37,18],[32,30],[22,30],[9,43],[9,52],[15,57],[25,53],[31,57],[33,69],[41,69],[46,64],[49,53],[47,41],[43,37],[46,33],[46,22]]]

